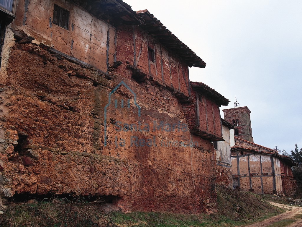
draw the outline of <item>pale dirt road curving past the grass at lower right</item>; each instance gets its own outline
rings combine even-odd
[[[269,202],[269,203],[271,203],[274,206],[278,206],[278,207],[286,208],[286,209],[290,209],[290,210],[288,210],[280,215],[266,219],[262,222],[258,222],[253,225],[248,225],[245,227],[267,227],[267,226],[269,226],[275,222],[279,222],[283,219],[293,218],[294,216],[296,216],[298,214],[302,214],[302,207],[284,205],[284,204],[275,203],[275,202]],[[302,227],[302,219],[299,219],[296,222],[294,222],[290,225],[287,225],[286,227]]]

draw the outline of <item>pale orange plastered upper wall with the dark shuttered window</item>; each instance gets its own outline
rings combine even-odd
[[[68,30],[52,22],[54,4],[69,11]],[[18,0],[11,27],[35,38],[37,44],[53,47],[103,72],[113,65],[115,28],[72,2]]]

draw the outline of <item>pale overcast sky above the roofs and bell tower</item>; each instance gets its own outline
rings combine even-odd
[[[148,9],[207,63],[190,68],[191,81],[228,98],[226,108],[235,96],[249,107],[255,143],[302,147],[302,1],[124,2]]]

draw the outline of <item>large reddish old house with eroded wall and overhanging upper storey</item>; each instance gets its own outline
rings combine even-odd
[[[121,0],[8,2],[2,200],[93,195],[122,211],[215,212],[211,141],[223,141],[228,100],[190,82],[188,67],[205,62]]]

